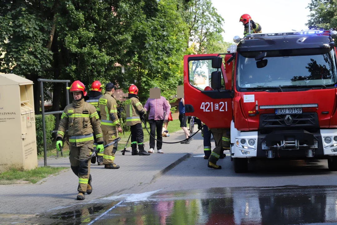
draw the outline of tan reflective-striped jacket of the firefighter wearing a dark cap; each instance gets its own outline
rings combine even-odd
[[[119,128],[121,126],[117,115],[117,102],[111,93],[106,91],[99,98],[98,107],[101,111],[102,131],[116,130],[116,127]]]

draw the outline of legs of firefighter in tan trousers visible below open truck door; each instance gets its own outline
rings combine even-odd
[[[224,150],[229,150],[231,145],[231,136],[230,129],[227,128],[212,128],[209,129],[214,137],[216,147],[211,152],[211,155],[208,159],[208,167],[213,169],[221,169],[221,166],[216,165],[216,162],[223,157],[226,157],[223,154]]]

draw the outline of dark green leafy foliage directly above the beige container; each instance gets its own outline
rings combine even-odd
[[[45,48],[48,23],[25,5],[0,15],[0,49],[6,52],[1,61],[1,72],[25,76],[45,76],[51,66],[52,52]]]

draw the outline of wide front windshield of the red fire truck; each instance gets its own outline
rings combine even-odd
[[[287,49],[266,51],[262,61],[258,52],[239,52],[236,86],[238,90],[258,87],[336,85],[336,55],[334,49]],[[259,65],[259,66],[258,66]],[[259,67],[259,68],[258,68]]]

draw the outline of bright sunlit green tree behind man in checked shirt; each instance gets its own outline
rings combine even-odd
[[[126,50],[130,66],[123,84],[127,88],[135,83],[144,102],[149,89],[155,86],[161,88],[165,97],[176,93],[176,86],[182,84],[181,62],[186,39],[183,32],[185,23],[177,11],[178,1],[143,3],[138,20],[132,25],[132,44]]]

